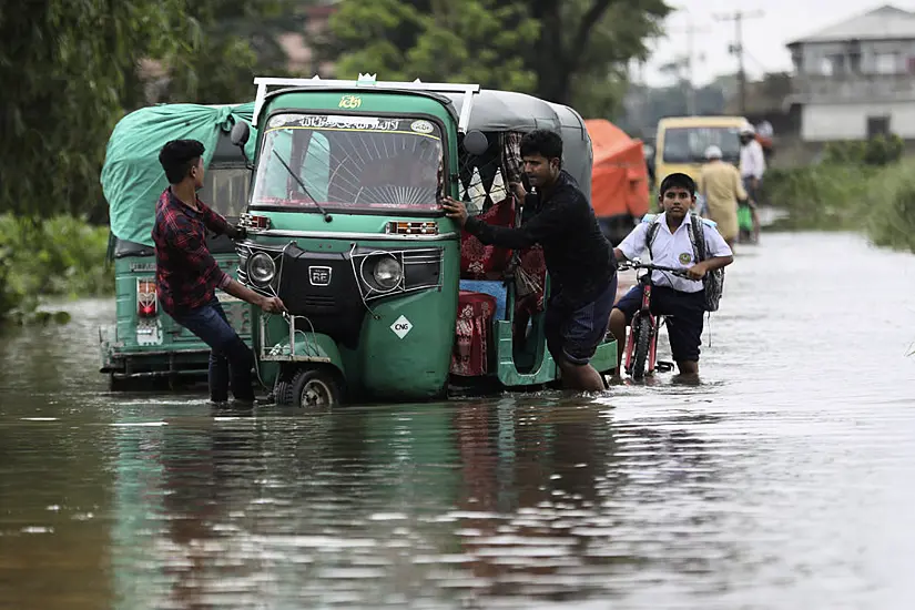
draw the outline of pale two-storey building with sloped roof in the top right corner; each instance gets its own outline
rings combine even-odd
[[[881,7],[787,48],[804,141],[915,140],[915,13]]]

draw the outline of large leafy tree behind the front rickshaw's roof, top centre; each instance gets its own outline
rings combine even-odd
[[[663,0],[347,0],[326,47],[342,77],[469,81],[609,114]]]

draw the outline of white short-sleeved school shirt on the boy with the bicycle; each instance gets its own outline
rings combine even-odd
[[[692,222],[689,212],[672,234],[668,227],[667,215],[664,213],[658,216],[645,214],[642,222],[639,223],[617,247],[620,248],[623,255],[630,261],[640,257],[641,254],[648,250],[648,243],[645,241],[648,227],[655,222],[660,223],[661,226],[658,228],[654,235],[654,243],[651,245],[651,262],[664,267],[683,270],[697,264],[695,252],[693,251],[689,234],[689,225]],[[715,228],[715,223],[708,218],[702,218],[702,228],[705,234],[706,258],[731,256],[733,254],[728,246],[728,242],[724,241],[724,237],[722,237],[718,228]],[[651,272],[651,281],[655,286],[669,286],[674,291],[683,293],[698,293],[702,289],[701,279],[688,279],[663,271]]]

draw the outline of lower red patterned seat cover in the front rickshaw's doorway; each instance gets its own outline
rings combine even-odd
[[[489,323],[496,313],[496,297],[460,291],[451,352],[451,373],[464,377],[486,375],[489,369]]]

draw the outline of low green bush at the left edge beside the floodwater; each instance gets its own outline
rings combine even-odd
[[[73,216],[0,216],[0,319],[33,314],[41,298],[111,294],[108,227]]]

